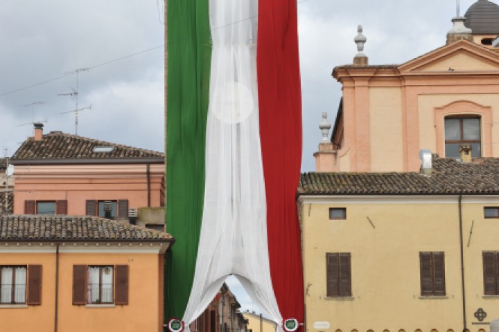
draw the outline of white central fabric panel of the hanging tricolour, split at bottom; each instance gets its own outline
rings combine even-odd
[[[257,0],[210,0],[213,41],[206,185],[189,326],[234,274],[281,329],[268,262],[256,87]],[[187,329],[189,329],[187,327]]]

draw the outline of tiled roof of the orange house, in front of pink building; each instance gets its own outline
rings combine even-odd
[[[170,242],[173,237],[94,216],[0,216],[0,241]]]

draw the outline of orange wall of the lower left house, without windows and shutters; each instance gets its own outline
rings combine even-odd
[[[100,246],[103,246],[102,244]],[[104,245],[105,246],[105,245]],[[100,250],[89,244],[86,249],[61,246],[59,261],[58,331],[163,331],[163,256],[159,249],[128,248]],[[155,245],[157,246],[157,245]],[[14,248],[12,248],[14,247]],[[33,249],[35,247],[36,249]],[[91,247],[91,248],[90,248]],[[135,248],[135,249],[134,249]],[[121,251],[121,252],[119,252]],[[133,252],[135,251],[135,252]],[[152,251],[156,251],[153,253]],[[0,305],[1,331],[54,331],[55,246],[37,243],[29,248],[15,243],[0,248],[0,265],[42,265],[42,304],[9,307]],[[123,306],[72,304],[73,265],[129,266],[129,302]],[[158,288],[159,287],[159,288]]]

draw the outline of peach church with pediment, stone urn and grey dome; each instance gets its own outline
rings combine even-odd
[[[445,46],[405,64],[369,64],[359,29],[360,53],[333,70],[343,95],[318,172],[414,172],[421,149],[457,158],[460,144],[499,157],[499,6],[478,1],[465,17]]]

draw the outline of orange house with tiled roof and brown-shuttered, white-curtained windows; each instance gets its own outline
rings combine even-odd
[[[0,330],[163,331],[170,234],[90,216],[0,216]]]

